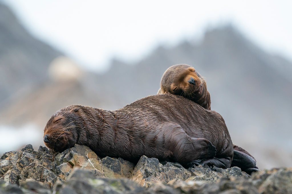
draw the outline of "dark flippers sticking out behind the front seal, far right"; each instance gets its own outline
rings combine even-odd
[[[248,174],[259,171],[258,167],[256,167],[256,160],[252,156],[238,150],[234,150],[232,166],[240,167],[241,171]]]

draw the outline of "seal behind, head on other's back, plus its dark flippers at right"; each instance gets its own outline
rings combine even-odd
[[[157,94],[175,94],[184,96],[202,107],[211,110],[211,97],[206,81],[192,67],[178,64],[169,67],[162,75]],[[251,174],[258,171],[256,160],[243,148],[233,145],[234,156],[231,166],[238,166],[242,171]]]

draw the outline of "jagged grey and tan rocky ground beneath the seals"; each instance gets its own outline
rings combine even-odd
[[[1,193],[292,193],[292,168],[249,176],[238,167],[185,169],[146,156],[135,165],[81,145],[51,154],[29,144],[1,157]]]

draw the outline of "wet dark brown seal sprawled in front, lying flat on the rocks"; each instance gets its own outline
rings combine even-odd
[[[81,144],[101,157],[137,162],[145,155],[185,167],[228,168],[233,158],[221,115],[172,94],[148,96],[115,111],[65,107],[49,119],[44,142],[53,151]]]

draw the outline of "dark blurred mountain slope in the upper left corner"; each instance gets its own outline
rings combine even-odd
[[[33,38],[11,10],[0,3],[0,108],[12,95],[48,79],[50,62],[60,52]]]

